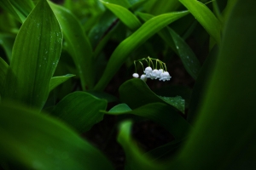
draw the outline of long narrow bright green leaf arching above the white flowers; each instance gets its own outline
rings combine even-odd
[[[113,54],[111,55],[108,65],[102,75],[100,81],[96,84],[94,88],[97,91],[103,90],[114,74],[119,70],[125,60],[129,57],[132,51],[140,47],[144,42],[152,37],[156,32],[160,31],[162,28],[168,24],[178,20],[184,15],[189,14],[188,11],[177,12],[171,14],[161,14],[148,20],[141,26],[137,31],[127,37],[123,42],[115,48]]]

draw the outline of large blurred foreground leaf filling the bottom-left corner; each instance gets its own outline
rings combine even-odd
[[[63,122],[13,103],[0,105],[0,136],[1,164],[13,169],[113,169]]]

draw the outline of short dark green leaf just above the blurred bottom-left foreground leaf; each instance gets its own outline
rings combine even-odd
[[[61,99],[51,114],[83,133],[102,121],[103,113],[100,110],[106,108],[105,99],[98,99],[85,92],[74,92]]]

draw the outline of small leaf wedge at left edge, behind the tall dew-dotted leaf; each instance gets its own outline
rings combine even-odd
[[[0,34],[0,45],[3,47],[7,58],[11,59],[12,57],[12,48],[15,42],[15,37],[9,34]]]

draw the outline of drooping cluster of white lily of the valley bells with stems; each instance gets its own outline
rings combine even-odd
[[[136,68],[136,62],[140,62],[141,65],[143,65],[143,63],[141,62],[142,60],[146,60],[148,62],[148,67],[146,67],[146,69],[144,70],[144,73],[141,76],[141,79],[146,82],[148,78],[154,80],[154,79],[159,79],[160,81],[169,81],[172,77],[170,76],[169,72],[166,71],[166,64],[163,63],[162,61],[160,61],[159,59],[152,59],[152,58],[144,58],[144,59],[139,59],[137,61],[134,62],[135,64],[135,68]],[[155,69],[153,70],[151,68],[150,65],[153,65],[154,68],[154,63],[152,60],[155,60]],[[160,65],[160,69],[157,70],[157,64]],[[139,75],[137,73],[134,73],[132,75],[132,77],[138,78]]]

